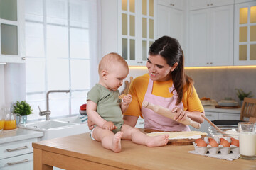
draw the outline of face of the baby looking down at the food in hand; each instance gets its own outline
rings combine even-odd
[[[117,89],[122,86],[123,80],[127,77],[128,72],[128,68],[123,67],[122,64],[115,65],[107,74],[107,88],[112,91],[117,91]]]

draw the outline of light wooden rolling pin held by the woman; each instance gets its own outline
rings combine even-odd
[[[163,106],[159,106],[159,105],[154,105],[152,103],[149,103],[148,101],[143,101],[142,106],[144,108],[151,109],[152,111],[154,111],[155,113],[158,113],[159,115],[164,115],[166,118],[171,118],[172,120],[174,120],[175,113],[170,111],[168,108],[164,108]],[[186,119],[183,121],[177,121],[177,122],[182,123],[183,125],[191,125],[193,128],[196,128],[196,129],[199,129],[201,127],[200,123],[197,123],[188,117],[186,117]]]

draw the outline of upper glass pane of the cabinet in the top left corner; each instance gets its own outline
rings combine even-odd
[[[0,0],[0,18],[17,21],[17,1]]]

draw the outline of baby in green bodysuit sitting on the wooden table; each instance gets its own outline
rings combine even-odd
[[[90,132],[92,140],[102,142],[102,147],[113,152],[121,152],[121,140],[132,140],[147,147],[166,145],[169,135],[149,137],[124,124],[122,113],[127,110],[132,96],[128,94],[120,102],[118,88],[128,75],[127,62],[117,53],[107,54],[102,57],[98,72],[100,81],[87,95],[87,115],[95,123]]]

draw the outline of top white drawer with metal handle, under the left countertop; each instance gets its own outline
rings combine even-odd
[[[33,152],[32,142],[38,142],[38,141],[40,141],[40,137],[1,144],[0,159],[15,157],[21,154],[32,153]]]

